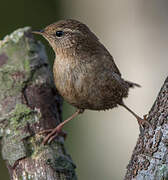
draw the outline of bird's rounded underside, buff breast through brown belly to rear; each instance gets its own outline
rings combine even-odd
[[[77,68],[68,69],[68,65],[63,69],[57,64],[54,80],[62,97],[79,109],[111,109],[127,96],[124,95],[122,87],[115,87],[116,83],[113,84],[112,79],[95,76],[91,71],[88,73]]]

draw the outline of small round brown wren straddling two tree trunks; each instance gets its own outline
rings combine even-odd
[[[150,123],[140,118],[123,99],[130,88],[140,87],[124,80],[113,56],[84,23],[75,19],[59,20],[32,33],[42,35],[55,52],[54,83],[60,95],[76,112],[47,133],[43,144],[61,134],[63,126],[84,110],[109,110],[119,105],[128,110],[140,127]]]

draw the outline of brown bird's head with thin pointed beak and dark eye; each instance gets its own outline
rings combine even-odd
[[[74,50],[87,46],[90,41],[97,41],[97,37],[85,24],[73,19],[58,21],[33,33],[46,38],[56,54],[68,51],[74,53]]]

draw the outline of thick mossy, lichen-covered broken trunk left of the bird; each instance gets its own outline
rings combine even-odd
[[[0,41],[0,137],[12,180],[76,180],[75,165],[58,137],[43,145],[38,132],[62,121],[43,45],[29,27]]]

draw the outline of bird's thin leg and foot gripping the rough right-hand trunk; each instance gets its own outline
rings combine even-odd
[[[143,125],[145,124],[147,124],[148,127],[152,128],[151,124],[146,120],[146,116],[144,116],[144,119],[142,119],[137,114],[135,114],[129,107],[127,107],[123,102],[120,103],[120,105],[127,109],[137,119],[138,124],[141,128],[143,128]]]

